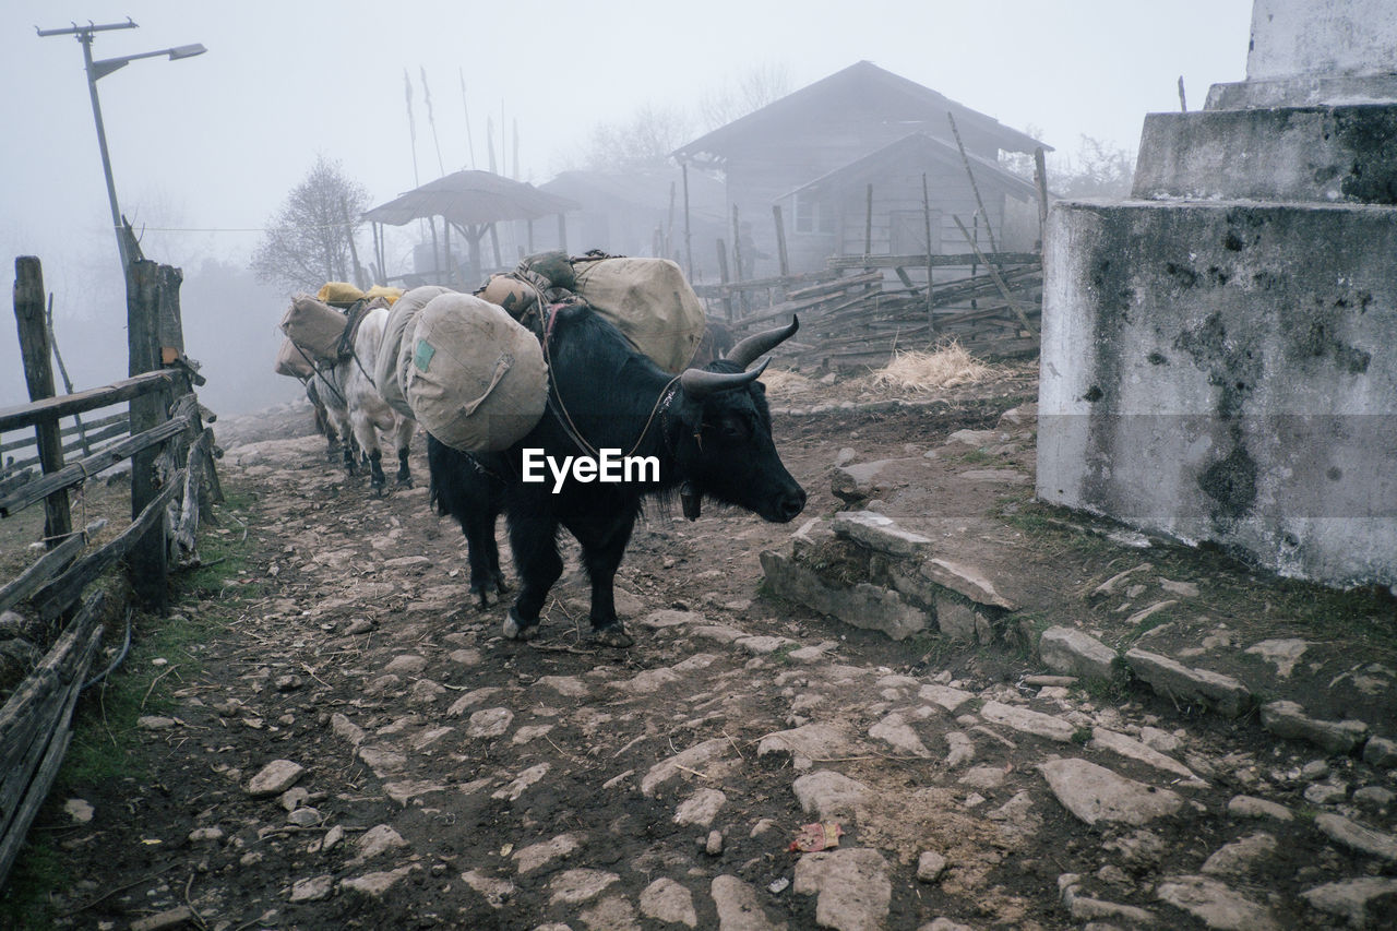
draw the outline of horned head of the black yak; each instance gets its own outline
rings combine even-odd
[[[676,398],[679,436],[675,460],[685,486],[685,516],[698,516],[700,496],[745,507],[787,523],[805,510],[805,489],[791,477],[771,439],[771,411],[757,379],[770,359],[747,369],[759,356],[795,335],[788,327],[756,333],[732,347],[728,358],[703,369],[687,369]]]

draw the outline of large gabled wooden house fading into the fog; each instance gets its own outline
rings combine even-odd
[[[870,62],[859,62],[683,145],[675,158],[724,178],[728,249],[732,208],[750,222],[742,277],[778,274],[773,207],[781,207],[789,271],[821,268],[830,256],[916,253],[925,249],[922,173],[936,229],[933,252],[968,252],[953,217],[975,225],[975,194],[951,123],[971,162],[999,242],[1006,199],[1032,197],[1031,185],[999,168],[1000,152],[1048,148],[985,113]],[[690,178],[697,173],[690,171]],[[872,185],[872,242],[869,242]],[[918,232],[922,231],[922,232]],[[974,235],[974,229],[972,229]],[[981,224],[982,247],[989,232]],[[1000,249],[1032,243],[999,243]],[[698,246],[694,246],[698,254]],[[707,245],[704,252],[711,252]]]

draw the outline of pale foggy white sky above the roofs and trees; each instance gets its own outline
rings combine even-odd
[[[599,124],[643,106],[694,112],[759,66],[784,68],[798,89],[865,59],[1031,130],[1059,154],[1081,136],[1133,151],[1146,112],[1179,106],[1180,75],[1190,108],[1210,84],[1243,77],[1250,7],[866,0],[831,15],[784,0],[6,0],[0,246],[10,268],[14,256],[43,260],[77,386],[124,376],[124,291],[81,46],[39,38],[35,27],[127,17],[140,25],[98,34],[96,59],[208,48],[187,60],[133,62],[98,89],[122,210],[148,257],[184,270],[187,351],[210,377],[201,397],[242,412],[299,393],[271,373],[285,295],[247,273],[260,228],[317,152],[339,159],[374,204],[415,186],[404,70],[420,182],[485,168],[486,119],[496,144],[502,126],[518,126],[520,176],[542,183],[576,165]],[[696,116],[693,136],[707,129]],[[13,324],[0,334],[8,405],[27,396]]]

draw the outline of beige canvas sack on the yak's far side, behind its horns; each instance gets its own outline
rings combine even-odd
[[[682,372],[703,340],[703,302],[669,259],[576,259],[574,291],[666,372]]]

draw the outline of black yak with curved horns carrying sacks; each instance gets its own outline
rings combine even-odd
[[[626,647],[633,640],[616,616],[612,580],[644,496],[678,491],[690,519],[703,498],[777,523],[803,510],[805,489],[771,439],[766,389],[757,382],[766,363],[746,370],[798,326],[792,320],[750,335],[728,358],[672,376],[591,308],[569,306],[553,315],[545,338],[548,410],[521,442],[502,453],[467,454],[427,436],[432,502],[461,523],[471,591],[482,608],[492,589],[506,590],[495,545],[495,519],[506,514],[521,582],[504,621],[507,637],[538,636],[539,611],[563,572],[560,526],[583,548],[594,640]],[[602,481],[606,454],[620,481]],[[654,468],[627,474],[622,459]],[[543,460],[550,464],[541,475]]]

